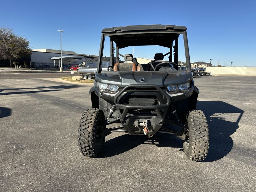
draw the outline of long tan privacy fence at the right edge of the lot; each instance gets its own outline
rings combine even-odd
[[[220,75],[255,75],[256,67],[206,67],[206,72]]]

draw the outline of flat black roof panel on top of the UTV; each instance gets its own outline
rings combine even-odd
[[[163,31],[163,30],[178,30],[185,31],[185,26],[178,25],[127,25],[125,27],[112,27],[102,29],[102,33],[120,33],[128,31]]]

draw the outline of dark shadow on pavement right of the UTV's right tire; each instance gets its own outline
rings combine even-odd
[[[197,108],[202,110],[209,125],[210,147],[204,162],[212,162],[226,156],[233,148],[230,137],[239,128],[244,111],[223,101],[197,101]],[[215,115],[217,113],[217,115]],[[221,117],[224,113],[237,113],[235,122]]]

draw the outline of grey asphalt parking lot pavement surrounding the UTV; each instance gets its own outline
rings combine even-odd
[[[0,73],[0,191],[256,190],[255,76],[194,78],[210,132],[204,162],[163,133],[111,133],[99,158],[82,156],[77,129],[91,84],[51,77]]]

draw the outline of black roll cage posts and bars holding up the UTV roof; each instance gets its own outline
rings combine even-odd
[[[99,60],[98,60],[98,67],[97,67],[97,73],[101,72],[101,61],[102,61],[102,56],[103,56],[103,49],[104,49],[104,42],[105,42],[105,37],[109,36],[110,38],[110,64],[112,68],[114,67],[114,50],[116,50],[116,62],[119,62],[119,47],[118,44],[116,44],[116,48],[113,46],[113,39],[111,36],[122,36],[122,35],[136,35],[136,34],[170,34],[170,33],[176,33],[176,34],[182,34],[183,35],[183,41],[184,41],[184,47],[185,47],[185,56],[186,56],[186,65],[187,65],[187,71],[191,72],[191,65],[190,65],[190,57],[189,57],[189,49],[188,49],[188,37],[187,37],[187,31],[137,31],[137,32],[123,32],[123,33],[102,33],[101,35],[101,41],[100,41],[100,52],[99,52]],[[173,62],[178,64],[178,38],[179,35],[173,40],[174,41],[174,46],[173,41],[170,42],[170,55],[169,55],[169,61],[172,61],[172,52],[174,52],[174,60]],[[143,46],[143,45],[142,45]],[[172,51],[173,48],[173,51]]]

